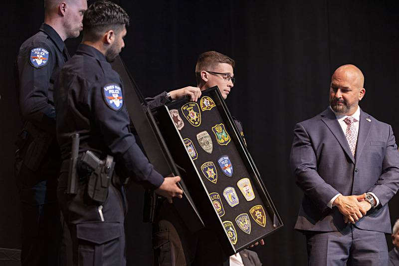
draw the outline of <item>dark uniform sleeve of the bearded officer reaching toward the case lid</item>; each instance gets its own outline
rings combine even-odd
[[[135,137],[130,133],[130,117],[123,102],[119,106],[112,103],[109,98],[112,96],[103,91],[104,86],[103,84],[95,85],[89,95],[92,97],[93,122],[99,128],[104,144],[115,157],[117,174],[122,177],[132,177],[146,188],[159,188],[164,177],[155,171],[137,145]],[[118,95],[122,95],[122,92],[111,93],[111,95],[118,98],[121,97]]]

